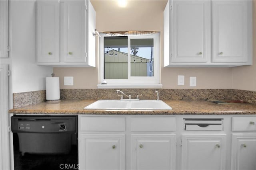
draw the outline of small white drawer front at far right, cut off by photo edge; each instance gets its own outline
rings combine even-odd
[[[256,131],[256,117],[232,117],[232,131]]]

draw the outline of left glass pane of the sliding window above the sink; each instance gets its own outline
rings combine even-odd
[[[104,79],[128,79],[127,37],[104,37]]]

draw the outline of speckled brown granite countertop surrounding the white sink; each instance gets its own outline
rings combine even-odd
[[[214,104],[204,100],[163,100],[172,110],[84,110],[96,100],[61,100],[59,103],[42,102],[11,109],[16,114],[111,114],[111,115],[174,115],[174,114],[256,114],[256,104]]]

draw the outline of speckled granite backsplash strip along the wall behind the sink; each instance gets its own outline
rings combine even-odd
[[[120,99],[117,89],[61,89],[60,100],[72,99]],[[140,99],[157,99],[155,90],[159,92],[160,100],[203,100],[232,99],[256,104],[256,91],[236,89],[121,89],[132,98],[142,94]],[[124,96],[125,98],[125,96]],[[28,106],[46,101],[46,91],[23,92],[13,94],[14,108]]]

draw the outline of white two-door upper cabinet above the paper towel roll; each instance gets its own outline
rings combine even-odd
[[[89,0],[37,1],[38,64],[95,66],[95,16]]]

